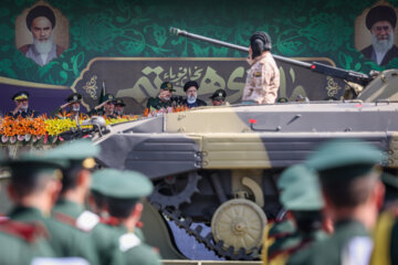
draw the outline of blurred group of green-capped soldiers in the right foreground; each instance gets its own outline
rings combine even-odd
[[[334,140],[277,181],[283,219],[264,231],[264,264],[398,264],[398,179],[370,144]]]

